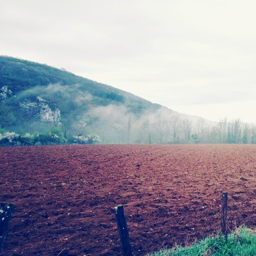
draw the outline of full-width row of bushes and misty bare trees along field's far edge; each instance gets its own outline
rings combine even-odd
[[[126,120],[126,121],[125,121]],[[43,125],[44,122],[42,122]],[[256,144],[256,125],[240,119],[220,119],[213,125],[205,119],[181,119],[180,115],[136,120],[127,116],[122,123],[89,117],[68,119],[45,132],[18,134],[0,128],[0,146],[56,144]],[[53,124],[52,124],[53,125]]]

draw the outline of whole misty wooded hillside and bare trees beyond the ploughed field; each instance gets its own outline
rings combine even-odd
[[[256,127],[180,114],[65,70],[0,56],[0,144],[255,143]]]

